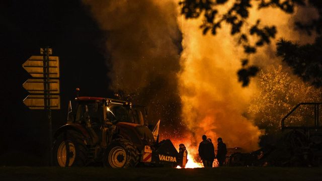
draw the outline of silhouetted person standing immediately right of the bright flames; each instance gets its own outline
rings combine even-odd
[[[207,140],[206,135],[202,135],[202,142],[199,144],[199,156],[202,159],[204,167],[212,167],[214,152],[211,152],[211,143]]]

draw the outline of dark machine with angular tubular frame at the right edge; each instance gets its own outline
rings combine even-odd
[[[295,166],[322,166],[322,103],[300,103],[281,121],[287,162]]]

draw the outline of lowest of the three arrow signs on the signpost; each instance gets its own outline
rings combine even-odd
[[[29,109],[45,109],[43,95],[29,95],[24,99],[24,104]],[[60,97],[57,95],[50,96],[50,109],[60,109]]]

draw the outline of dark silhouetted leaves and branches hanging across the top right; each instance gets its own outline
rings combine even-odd
[[[219,14],[219,5],[232,2],[226,12]],[[203,15],[203,23],[200,28],[203,34],[211,32],[216,35],[218,29],[221,28],[222,23],[231,26],[230,34],[238,37],[238,44],[244,47],[246,55],[256,53],[257,48],[270,44],[271,39],[275,38],[277,29],[275,26],[267,26],[262,23],[260,19],[256,24],[251,25],[247,22],[249,18],[250,8],[252,8],[251,2],[258,2],[258,10],[273,7],[278,8],[287,14],[293,14],[296,6],[311,6],[317,9],[319,18],[312,20],[307,24],[296,22],[295,26],[307,34],[311,34],[315,31],[318,35],[321,33],[322,20],[322,1],[319,0],[184,0],[180,3],[182,6],[182,14],[186,19],[198,18]],[[263,20],[265,23],[265,20]],[[245,25],[248,26],[245,26]],[[241,29],[247,29],[247,32],[241,31]],[[249,41],[250,36],[257,37],[255,43]],[[320,39],[317,38],[316,42],[312,45],[298,46],[290,41],[280,40],[278,42],[278,56],[282,56],[283,61],[294,69],[294,73],[304,81],[310,81],[315,86],[321,86],[321,56]],[[296,48],[296,49],[292,49]],[[300,51],[300,52],[295,52]],[[295,54],[294,54],[295,53]],[[314,57],[311,57],[313,56]],[[309,60],[308,60],[309,59]],[[250,77],[255,76],[259,70],[257,66],[248,65],[248,59],[243,58],[241,60],[242,67],[238,70],[237,75],[239,81],[243,83],[243,86],[247,86],[250,81]],[[304,65],[303,65],[304,64]]]

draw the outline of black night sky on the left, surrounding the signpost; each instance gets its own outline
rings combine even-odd
[[[53,111],[53,132],[66,122],[67,104],[81,96],[110,97],[105,63],[106,33],[81,1],[0,2],[0,165],[47,165],[48,122],[29,110],[22,84],[31,76],[22,64],[50,46],[60,58],[61,110]]]

